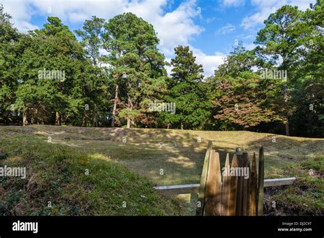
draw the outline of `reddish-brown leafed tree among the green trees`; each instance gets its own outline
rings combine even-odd
[[[235,78],[220,79],[217,90],[221,96],[214,101],[217,109],[214,118],[232,124],[235,129],[249,129],[260,123],[280,120],[265,96],[267,92],[262,88],[260,75],[255,72],[245,71]]]

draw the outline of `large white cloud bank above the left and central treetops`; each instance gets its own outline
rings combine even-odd
[[[5,12],[13,16],[14,24],[20,30],[38,28],[30,23],[33,15],[58,16],[64,24],[69,24],[83,23],[83,21],[94,15],[108,20],[122,12],[133,12],[154,26],[158,37],[161,39],[159,49],[165,54],[169,62],[171,57],[174,57],[175,47],[178,45],[190,46],[191,40],[204,31],[202,27],[195,25],[193,21],[195,17],[200,16],[195,0],[184,1],[176,9],[168,12],[165,12],[169,4],[167,0],[1,1],[5,7]],[[226,4],[234,4],[234,1],[233,3],[227,1]],[[206,55],[200,49],[190,48],[197,57],[198,64],[203,65],[204,75],[213,75],[215,68],[223,62],[225,57],[222,53]],[[171,67],[166,68],[167,72],[170,73]]]

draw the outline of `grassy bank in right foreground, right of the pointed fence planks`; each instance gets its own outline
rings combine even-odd
[[[272,175],[296,176],[297,181],[290,186],[266,189],[267,215],[324,215],[324,157],[275,169]]]

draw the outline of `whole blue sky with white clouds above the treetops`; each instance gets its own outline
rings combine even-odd
[[[70,29],[81,29],[92,15],[105,19],[133,12],[154,26],[167,60],[179,44],[189,45],[204,75],[213,71],[241,40],[247,49],[269,14],[284,4],[306,10],[315,0],[0,0],[20,31],[41,28],[58,16]],[[170,70],[170,68],[168,69]]]

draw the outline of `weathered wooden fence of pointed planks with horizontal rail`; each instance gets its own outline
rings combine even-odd
[[[252,160],[246,152],[235,153],[230,164],[226,155],[223,170],[219,153],[208,143],[200,184],[154,187],[163,194],[195,194],[198,191],[196,215],[262,215],[264,187],[289,185],[293,178],[264,179],[264,153],[259,150]],[[223,175],[223,176],[222,176]]]

